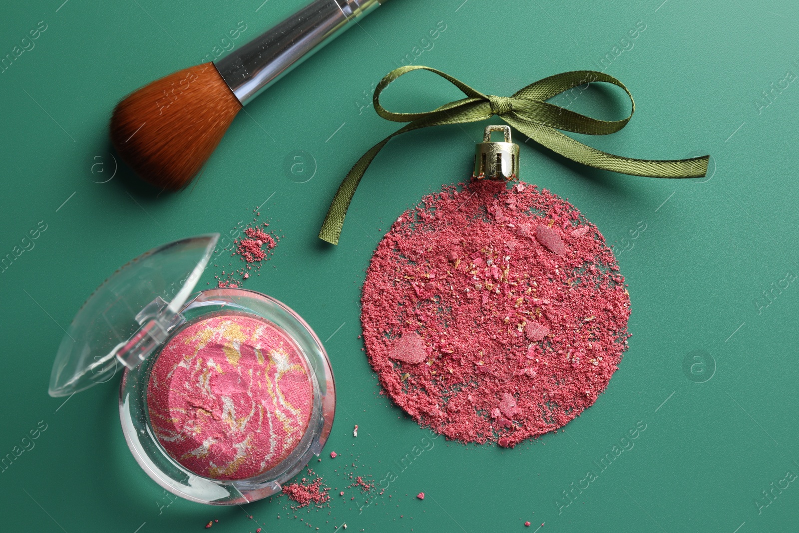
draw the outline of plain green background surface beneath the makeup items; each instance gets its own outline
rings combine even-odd
[[[774,91],[767,107],[754,103],[786,71],[799,71],[791,2],[392,0],[248,105],[195,185],[160,196],[121,165],[108,181],[113,105],[199,62],[237,22],[248,26],[239,46],[304,0],[62,2],[0,8],[0,57],[39,21],[47,25],[34,49],[0,74],[0,257],[46,225],[0,274],[0,455],[46,424],[35,446],[0,473],[0,530],[201,531],[219,519],[212,531],[310,525],[332,533],[343,523],[348,531],[532,533],[541,523],[541,533],[797,531],[797,483],[773,491],[773,500],[762,491],[799,473],[799,285],[782,281],[799,275],[799,85]],[[582,141],[630,157],[714,159],[707,179],[658,181],[523,145],[523,179],[568,197],[623,249],[630,349],[606,393],[565,432],[513,450],[442,437],[402,469],[427,431],[378,394],[358,338],[360,285],[389,222],[423,193],[468,177],[485,124],[392,141],[356,194],[341,244],[324,245],[316,233],[350,166],[397,128],[369,105],[374,85],[439,21],[446,30],[416,64],[500,95],[550,74],[604,68],[630,88],[638,111],[621,132]],[[646,30],[632,48],[599,66],[639,21]],[[387,107],[431,109],[459,97],[434,78],[403,78],[387,91]],[[592,89],[570,109],[620,118],[625,98]],[[308,154],[307,166],[286,173],[295,150]],[[352,489],[355,500],[336,496],[329,508],[298,513],[287,513],[282,498],[231,508],[170,503],[127,449],[117,380],[66,403],[47,396],[63,328],[106,276],[173,238],[224,234],[262,204],[262,217],[284,237],[245,287],[304,316],[326,340],[336,373],[336,423],[323,461],[312,466],[332,487],[348,484],[351,463],[375,479],[399,473],[362,511]],[[646,231],[633,239],[640,221]],[[200,287],[221,269],[209,268]],[[769,300],[763,291],[772,291]],[[690,360],[697,365],[686,371],[694,350],[704,360]],[[634,447],[560,507],[562,491],[637,424],[646,430]],[[333,450],[340,459],[328,458]]]

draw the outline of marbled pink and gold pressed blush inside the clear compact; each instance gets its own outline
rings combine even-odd
[[[313,391],[282,330],[224,315],[189,324],[167,342],[151,369],[147,405],[155,436],[178,463],[213,479],[247,479],[300,443]]]

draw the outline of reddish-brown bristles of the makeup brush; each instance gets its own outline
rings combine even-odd
[[[217,68],[204,63],[120,101],[111,115],[111,141],[142,179],[178,190],[197,175],[240,109]]]

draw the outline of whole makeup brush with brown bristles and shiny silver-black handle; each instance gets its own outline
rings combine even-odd
[[[137,89],[113,109],[114,147],[145,181],[182,189],[244,105],[385,2],[315,0],[216,62]]]

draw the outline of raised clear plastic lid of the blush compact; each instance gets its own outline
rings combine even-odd
[[[69,396],[110,380],[121,365],[141,364],[180,320],[218,239],[212,233],[159,246],[105,280],[58,347],[50,396]]]

